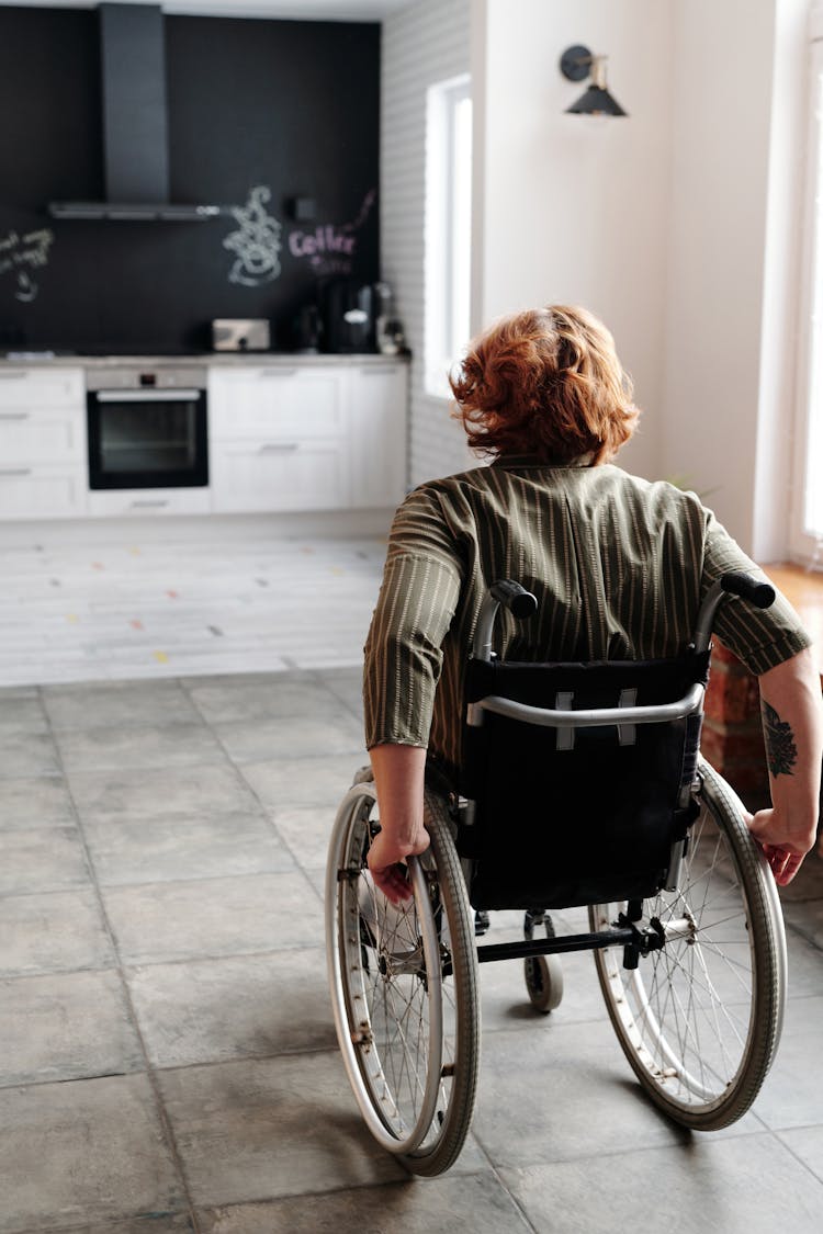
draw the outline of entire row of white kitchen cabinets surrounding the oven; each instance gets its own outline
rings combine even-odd
[[[406,404],[407,364],[392,358],[212,362],[209,485],[90,491],[84,368],[0,363],[0,520],[391,508]]]

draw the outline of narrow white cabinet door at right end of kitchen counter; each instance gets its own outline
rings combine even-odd
[[[352,506],[397,506],[406,495],[407,365],[374,362],[350,370]]]

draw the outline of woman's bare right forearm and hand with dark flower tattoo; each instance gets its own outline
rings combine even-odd
[[[763,732],[771,784],[771,810],[749,822],[780,886],[791,882],[814,847],[821,798],[823,706],[811,649],[760,679]]]

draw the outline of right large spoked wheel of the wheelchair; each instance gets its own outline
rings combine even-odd
[[[743,806],[701,759],[700,814],[680,890],[644,903],[665,929],[661,950],[623,967],[622,949],[595,953],[623,1053],[651,1099],[685,1127],[717,1130],[751,1106],[777,1049],[786,938],[777,890]],[[619,905],[590,908],[606,929]]]

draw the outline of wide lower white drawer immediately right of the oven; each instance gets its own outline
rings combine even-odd
[[[338,510],[348,503],[348,468],[341,442],[278,447],[232,442],[212,458],[216,513]]]

